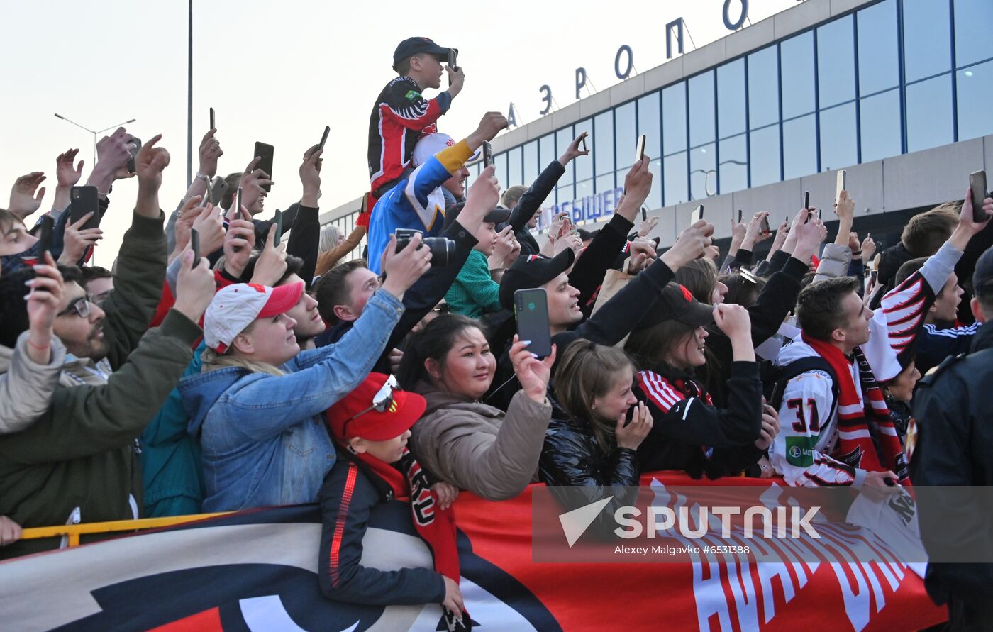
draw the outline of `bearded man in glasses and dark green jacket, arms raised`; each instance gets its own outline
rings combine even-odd
[[[54,329],[69,352],[67,365],[49,409],[26,429],[0,437],[0,515],[23,527],[140,517],[136,439],[190,362],[202,334],[197,323],[214,291],[207,261],[194,267],[186,251],[176,303],[160,327],[148,330],[166,273],[159,188],[169,154],[155,147],[158,140],[136,158],[138,200],[113,291],[97,306],[79,284],[78,269],[63,268]],[[24,294],[44,291],[39,283],[34,268],[0,277],[0,339],[7,344],[27,329]],[[104,359],[109,375],[97,364]],[[0,558],[59,546],[57,538],[21,541],[0,549]]]

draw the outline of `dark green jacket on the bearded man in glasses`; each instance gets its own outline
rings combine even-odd
[[[176,386],[201,329],[175,310],[146,330],[166,267],[163,218],[135,216],[124,237],[115,289],[103,304],[114,373],[105,385],[56,389],[29,428],[0,436],[0,515],[22,527],[128,520],[140,516],[136,439]],[[59,539],[21,541],[0,558],[57,548]]]

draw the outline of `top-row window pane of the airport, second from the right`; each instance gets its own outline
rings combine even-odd
[[[908,83],[951,70],[948,0],[904,0],[904,69]]]

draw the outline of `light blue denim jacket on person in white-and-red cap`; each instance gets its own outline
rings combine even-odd
[[[301,352],[283,376],[228,367],[180,382],[201,440],[205,512],[317,501],[335,464],[323,412],[365,379],[401,314],[400,301],[379,290],[352,331]]]

